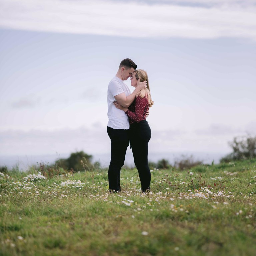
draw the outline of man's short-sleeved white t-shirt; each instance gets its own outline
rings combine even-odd
[[[113,104],[116,100],[114,97],[123,92],[126,96],[131,94],[124,81],[115,76],[108,85],[108,127],[113,129],[128,130],[130,128],[128,116]]]

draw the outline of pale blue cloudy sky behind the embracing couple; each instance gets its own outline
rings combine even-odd
[[[0,165],[109,153],[107,86],[149,74],[149,151],[225,155],[256,135],[256,1],[0,0]],[[130,85],[130,81],[127,81]]]

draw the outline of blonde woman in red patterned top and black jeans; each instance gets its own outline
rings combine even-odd
[[[146,120],[148,108],[154,102],[151,99],[148,74],[142,69],[135,70],[131,76],[131,86],[137,87],[138,80],[147,81],[147,88],[139,91],[134,102],[125,108],[118,102],[114,102],[118,109],[123,110],[129,117],[130,142],[134,163],[138,169],[142,192],[150,191],[151,173],[148,167],[148,142],[151,138],[151,130]]]

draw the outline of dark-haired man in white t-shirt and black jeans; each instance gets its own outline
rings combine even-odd
[[[133,93],[123,82],[131,77],[137,65],[131,59],[121,61],[116,76],[108,85],[108,127],[107,132],[111,140],[111,160],[108,169],[109,190],[120,192],[120,172],[124,165],[125,154],[129,146],[129,120],[124,111],[114,106],[114,101],[118,101],[122,106],[129,107],[134,101],[136,94],[147,87],[147,82],[137,83]]]

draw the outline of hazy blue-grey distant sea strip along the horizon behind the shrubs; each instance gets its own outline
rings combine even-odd
[[[175,161],[182,159],[183,156],[190,157],[196,161],[202,161],[204,164],[211,164],[214,161],[215,164],[219,163],[219,160],[225,156],[227,153],[216,153],[216,152],[177,152],[177,153],[149,153],[148,160],[151,162],[157,162],[161,159],[166,159],[170,164],[174,164]],[[19,167],[19,170],[25,171],[32,165],[38,165],[39,163],[53,164],[56,160],[60,158],[68,158],[67,154],[49,154],[49,155],[0,155],[0,166],[7,166],[9,169]],[[109,154],[91,154],[93,155],[93,162],[100,162],[102,167],[108,167],[110,162]],[[129,167],[134,167],[133,155],[127,150],[125,165]]]

